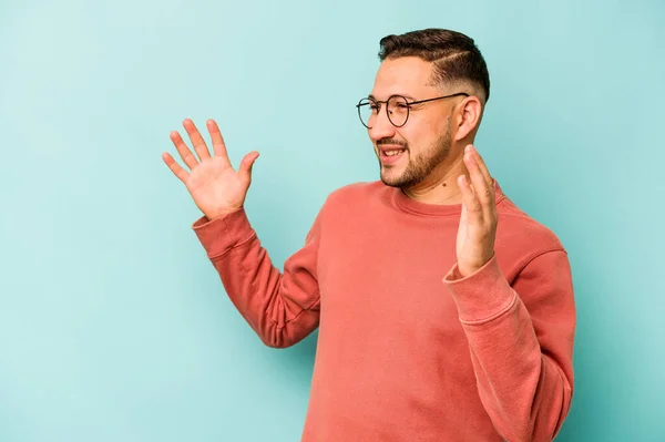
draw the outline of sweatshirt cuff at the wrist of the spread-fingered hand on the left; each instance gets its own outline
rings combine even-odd
[[[213,220],[202,216],[194,222],[192,228],[208,258],[224,255],[256,235],[244,208]]]

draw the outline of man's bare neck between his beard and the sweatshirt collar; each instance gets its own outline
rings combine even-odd
[[[462,157],[454,160],[452,164],[441,164],[432,171],[430,178],[422,183],[403,188],[402,192],[409,198],[426,204],[461,204],[462,193],[458,186],[457,178],[460,175],[469,176]]]

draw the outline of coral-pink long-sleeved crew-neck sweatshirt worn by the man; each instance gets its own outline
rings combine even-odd
[[[495,193],[495,255],[466,278],[461,206],[381,182],[332,192],[284,273],[243,209],[194,223],[267,346],[319,327],[303,441],[554,438],[573,391],[571,268],[556,236]]]

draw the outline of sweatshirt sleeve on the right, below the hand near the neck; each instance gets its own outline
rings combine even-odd
[[[480,399],[510,442],[551,441],[573,394],[575,305],[567,255],[533,258],[510,285],[494,256],[443,278],[469,340]]]

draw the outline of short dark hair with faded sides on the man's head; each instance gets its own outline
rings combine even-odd
[[[433,62],[432,82],[470,82],[490,99],[490,74],[473,39],[448,29],[423,29],[401,35],[386,35],[379,42],[379,59],[418,56]]]

